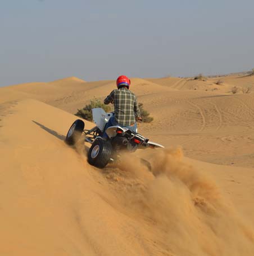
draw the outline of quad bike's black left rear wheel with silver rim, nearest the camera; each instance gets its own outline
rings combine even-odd
[[[112,146],[107,140],[97,138],[94,140],[88,152],[88,162],[98,168],[105,167],[110,161]]]

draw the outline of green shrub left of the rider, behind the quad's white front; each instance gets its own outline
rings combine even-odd
[[[111,111],[110,105],[105,105],[99,99],[90,100],[90,104],[85,105],[84,108],[78,109],[78,112],[75,114],[78,117],[84,118],[88,121],[93,121],[92,108],[103,108],[106,112]]]

